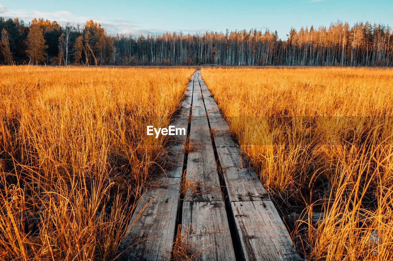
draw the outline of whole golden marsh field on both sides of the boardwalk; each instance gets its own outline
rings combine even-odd
[[[193,67],[0,67],[0,260],[114,260]],[[393,69],[203,67],[307,260],[393,256]]]

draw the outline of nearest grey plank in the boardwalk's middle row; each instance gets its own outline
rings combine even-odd
[[[235,260],[223,201],[184,201],[182,224],[193,225],[187,241],[199,248],[198,260]]]

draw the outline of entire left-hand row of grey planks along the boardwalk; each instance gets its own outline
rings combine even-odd
[[[195,73],[193,74],[195,76]],[[193,93],[193,76],[180,102],[179,115],[171,121],[176,127],[188,127]],[[173,167],[160,174],[153,187],[146,188],[127,228],[121,249],[124,260],[170,260],[179,207],[186,136],[172,136],[169,157]],[[169,177],[169,178],[165,178]],[[166,251],[164,255],[164,251]]]

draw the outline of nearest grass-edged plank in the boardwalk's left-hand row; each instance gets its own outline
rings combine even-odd
[[[163,179],[143,194],[121,245],[123,260],[170,260],[180,178]]]

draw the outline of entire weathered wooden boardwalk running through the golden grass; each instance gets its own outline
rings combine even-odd
[[[170,260],[178,225],[193,233],[195,260],[300,260],[288,231],[202,80],[191,76],[171,125],[174,167],[146,190],[121,248],[122,260]],[[184,151],[183,144],[191,146]],[[143,210],[143,211],[142,211]]]

